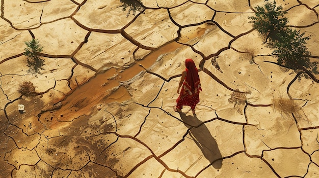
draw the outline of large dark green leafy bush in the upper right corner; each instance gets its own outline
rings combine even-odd
[[[286,12],[281,6],[277,7],[275,1],[270,3],[265,0],[265,2],[267,3],[264,7],[256,7],[255,16],[248,18],[264,39],[264,43],[269,40],[268,47],[275,49],[272,55],[278,58],[278,64],[294,70],[307,69],[318,74],[319,62],[311,62],[308,57],[310,52],[306,47],[306,41],[310,38],[304,37],[305,33],[286,27],[288,22],[284,17]]]

